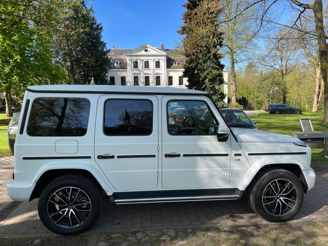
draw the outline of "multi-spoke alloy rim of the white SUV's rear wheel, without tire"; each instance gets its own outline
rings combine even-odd
[[[60,228],[76,228],[91,213],[91,200],[81,189],[65,187],[55,191],[47,204],[48,216]]]

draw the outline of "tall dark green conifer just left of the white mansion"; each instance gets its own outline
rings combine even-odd
[[[92,6],[84,0],[70,1],[62,13],[63,25],[55,36],[56,51],[66,67],[71,84],[108,84],[106,44],[101,39],[103,26],[97,23]]]

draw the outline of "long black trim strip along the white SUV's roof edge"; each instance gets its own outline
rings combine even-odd
[[[90,88],[91,89],[91,88]],[[207,96],[209,93],[172,93],[172,92],[134,92],[134,91],[51,91],[51,90],[33,90],[28,87],[25,90],[34,93],[70,93],[70,94],[121,94],[121,95],[187,95],[187,96]]]

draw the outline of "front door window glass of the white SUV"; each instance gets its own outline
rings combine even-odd
[[[216,135],[218,123],[204,101],[169,101],[167,115],[171,135]]]

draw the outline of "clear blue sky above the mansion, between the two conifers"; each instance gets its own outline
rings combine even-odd
[[[183,0],[94,0],[93,9],[103,24],[107,48],[135,49],[149,44],[173,49],[181,36]]]

